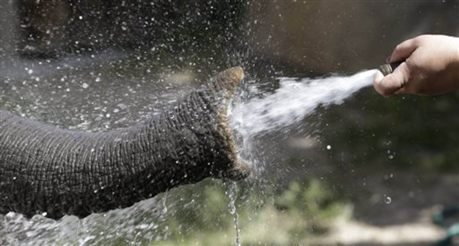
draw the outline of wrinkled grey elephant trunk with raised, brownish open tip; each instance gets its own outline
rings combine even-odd
[[[240,179],[226,109],[244,72],[219,73],[173,111],[109,132],[59,129],[0,111],[0,213],[59,219],[125,208],[206,177]]]

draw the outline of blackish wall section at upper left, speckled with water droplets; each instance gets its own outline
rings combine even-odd
[[[18,49],[26,56],[55,56],[204,40],[200,35],[208,31],[228,38],[236,28],[235,20],[242,16],[240,2],[17,0]]]

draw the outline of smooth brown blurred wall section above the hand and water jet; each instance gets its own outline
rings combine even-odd
[[[459,34],[457,0],[255,0],[247,35],[265,56],[318,73],[354,72],[384,62],[422,33]]]

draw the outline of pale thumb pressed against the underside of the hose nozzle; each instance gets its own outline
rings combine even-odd
[[[381,80],[376,80],[376,78],[374,84],[376,91],[383,96],[388,96],[408,83],[410,78],[409,67],[406,62],[402,62],[391,74]]]

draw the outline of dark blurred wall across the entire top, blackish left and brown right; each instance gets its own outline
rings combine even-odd
[[[422,33],[459,33],[453,0],[2,2],[16,3],[17,13],[7,14],[19,20],[16,30],[2,27],[2,33],[18,33],[17,50],[26,56],[161,44],[224,49],[243,32],[239,43],[257,56],[321,74],[378,66],[396,44]]]

